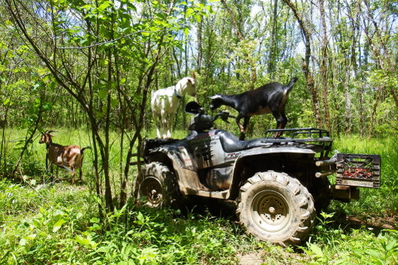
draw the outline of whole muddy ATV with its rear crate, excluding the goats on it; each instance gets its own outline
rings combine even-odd
[[[153,208],[179,208],[183,196],[233,200],[248,234],[281,246],[307,239],[316,210],[332,199],[359,199],[358,187],[379,188],[379,155],[332,155],[329,131],[271,129],[264,138],[239,140],[213,128],[228,122],[227,111],[212,117],[196,102],[186,138],[145,139],[143,165],[133,184],[134,198]],[[273,138],[281,131],[284,137]],[[327,176],[336,173],[336,184]]]

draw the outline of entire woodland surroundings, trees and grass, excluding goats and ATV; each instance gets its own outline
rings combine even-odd
[[[387,0],[0,0],[0,263],[397,264],[397,17]],[[380,154],[381,188],[332,201],[305,246],[286,249],[246,236],[220,201],[137,208],[130,163],[156,137],[150,95],[191,71],[197,97],[183,98],[174,138],[186,102],[208,109],[210,95],[297,76],[287,127]],[[246,137],[274,127],[255,116]],[[82,182],[51,181],[46,130],[91,145]]]

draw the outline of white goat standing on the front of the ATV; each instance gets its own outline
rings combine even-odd
[[[183,77],[175,86],[152,92],[151,108],[158,138],[172,138],[172,120],[179,107],[180,98],[186,93],[192,97],[196,95],[194,71],[191,77]]]

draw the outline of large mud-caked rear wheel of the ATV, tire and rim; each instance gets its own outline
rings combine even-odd
[[[300,244],[314,223],[314,199],[300,181],[259,172],[240,188],[237,216],[248,234],[281,246]]]

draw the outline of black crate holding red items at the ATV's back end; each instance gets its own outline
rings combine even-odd
[[[336,185],[380,188],[381,157],[377,154],[337,154]]]

